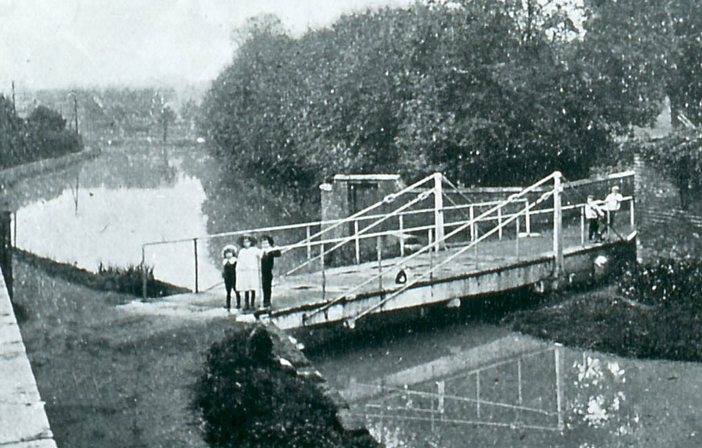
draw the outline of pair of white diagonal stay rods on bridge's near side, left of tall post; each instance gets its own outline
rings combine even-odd
[[[485,212],[483,212],[481,215],[479,215],[479,216],[477,216],[477,217],[474,217],[473,219],[470,219],[469,222],[468,222],[467,224],[462,224],[461,226],[458,226],[458,228],[454,229],[453,231],[451,231],[451,232],[449,232],[449,233],[446,233],[442,238],[439,238],[439,239],[434,240],[432,243],[426,245],[425,247],[423,247],[422,249],[418,250],[417,252],[414,252],[413,254],[409,255],[409,257],[404,257],[404,259],[400,259],[399,261],[395,262],[394,264],[392,264],[392,265],[390,266],[390,268],[394,268],[394,267],[397,267],[397,266],[402,266],[402,265],[406,264],[407,262],[409,262],[410,260],[415,259],[416,257],[418,257],[420,254],[423,254],[423,253],[426,252],[427,250],[432,250],[435,246],[437,246],[437,245],[439,245],[439,244],[441,244],[441,243],[444,243],[448,238],[451,238],[452,236],[456,235],[457,233],[459,233],[459,232],[461,232],[461,231],[467,229],[468,226],[470,226],[470,223],[475,223],[475,221],[476,221],[477,219],[482,219],[483,217],[489,216],[489,215],[491,215],[493,212],[496,212],[496,210],[498,210],[498,209],[500,209],[500,208],[503,208],[503,206],[505,206],[505,205],[507,205],[507,204],[509,204],[509,203],[515,202],[515,201],[517,200],[517,198],[520,198],[521,196],[524,196],[524,195],[526,195],[526,194],[529,194],[531,191],[534,191],[535,189],[537,189],[538,186],[541,186],[541,185],[545,184],[546,182],[548,182],[548,181],[554,179],[554,177],[555,177],[556,175],[560,175],[560,173],[559,173],[559,172],[553,172],[552,174],[550,174],[550,175],[544,177],[543,179],[539,180],[539,181],[536,182],[535,184],[532,184],[531,186],[528,186],[526,189],[523,189],[523,190],[520,191],[519,193],[515,193],[515,194],[510,195],[508,198],[506,198],[505,200],[503,200],[503,201],[501,201],[500,203],[498,203],[498,205],[495,205],[494,207],[490,208],[489,210],[486,210]],[[550,196],[550,194],[552,194],[552,191],[548,191],[544,196]],[[543,196],[542,196],[542,198],[543,198]],[[542,198],[539,198],[539,201],[542,201]],[[545,199],[543,199],[543,200],[545,200]],[[519,216],[519,215],[517,215],[517,216]],[[497,231],[499,228],[505,226],[506,224],[508,224],[509,222],[511,222],[511,221],[514,220],[514,219],[516,219],[516,216],[513,217],[513,218],[510,218],[510,219],[505,219],[505,221],[503,221],[501,225],[496,226],[492,231],[489,231],[489,232],[487,232],[487,233],[484,233],[484,234],[483,234],[482,236],[480,236],[479,238],[476,238],[475,240],[472,241],[472,243],[470,243],[469,245],[463,247],[463,248],[459,251],[459,253],[460,253],[460,254],[463,254],[463,252],[465,252],[465,250],[468,250],[469,248],[473,247],[475,244],[479,243],[479,241],[484,240],[484,238],[486,238],[487,236],[491,235],[492,233],[494,233],[495,231]],[[450,257],[451,260],[453,260],[453,258],[455,258],[455,257]],[[445,262],[442,263],[442,266],[443,266],[444,264],[445,264]],[[420,278],[424,278],[425,275],[428,275],[429,273],[433,273],[433,271],[435,271],[435,269],[436,269],[436,268],[432,269],[431,271],[427,271],[427,272],[426,272],[425,274],[423,274],[423,276],[420,277]],[[335,297],[335,298],[332,299],[331,301],[327,301],[327,302],[326,302],[325,304],[323,304],[322,306],[319,306],[319,308],[315,308],[315,309],[312,311],[312,313],[310,313],[310,315],[306,315],[306,316],[305,316],[305,319],[309,319],[309,318],[313,317],[314,315],[317,315],[318,313],[320,313],[320,312],[322,312],[322,311],[325,311],[326,309],[329,309],[331,306],[333,306],[334,304],[338,303],[338,301],[343,300],[345,297],[347,297],[349,294],[352,294],[353,292],[359,291],[362,287],[364,287],[365,285],[369,285],[369,283],[373,282],[373,280],[376,280],[377,278],[379,278],[379,277],[382,276],[382,275],[383,275],[383,273],[374,274],[373,276],[371,276],[371,278],[365,280],[365,281],[362,282],[362,283],[359,283],[359,285],[356,285],[352,290],[349,290],[349,291],[344,292],[343,294],[340,294],[339,296]],[[404,292],[404,291],[407,290],[410,286],[415,285],[415,284],[417,283],[418,280],[419,280],[419,279],[416,279],[416,280],[411,281],[410,283],[407,283],[407,284],[404,285],[402,288],[400,288],[398,291],[399,291],[399,292]],[[393,292],[393,293],[391,294],[390,297],[391,297],[391,298],[394,298],[395,296],[397,296],[397,294],[399,294],[399,292]],[[387,302],[387,301],[388,301],[388,299],[383,299],[382,301],[380,301],[380,305],[379,305],[379,306],[382,306],[382,304],[385,304],[385,302]],[[374,307],[373,307],[373,310],[376,309],[376,308],[377,308],[377,306],[374,306]],[[372,311],[372,310],[371,310],[371,311]],[[365,311],[364,311],[364,313],[365,313]],[[365,314],[364,314],[364,315],[365,315]],[[362,317],[362,316],[359,316],[359,317]]]

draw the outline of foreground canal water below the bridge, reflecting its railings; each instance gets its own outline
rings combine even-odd
[[[307,355],[385,447],[699,446],[693,363],[566,348],[453,310],[340,334]]]

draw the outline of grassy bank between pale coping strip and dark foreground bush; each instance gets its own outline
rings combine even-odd
[[[131,317],[15,258],[22,338],[60,447],[206,447],[187,411],[204,352],[230,320]]]

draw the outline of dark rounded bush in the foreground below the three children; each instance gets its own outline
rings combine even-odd
[[[316,381],[277,362],[263,327],[232,330],[211,346],[192,408],[211,447],[378,446],[344,432]]]

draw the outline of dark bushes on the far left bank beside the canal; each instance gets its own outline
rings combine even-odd
[[[58,112],[39,106],[24,120],[12,102],[0,95],[0,168],[61,156],[81,147],[81,138],[66,129]]]

